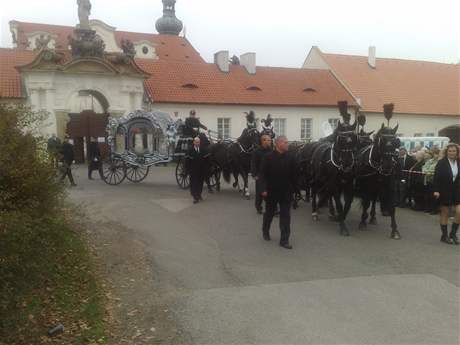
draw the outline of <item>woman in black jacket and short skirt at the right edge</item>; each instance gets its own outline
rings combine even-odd
[[[457,230],[460,223],[460,149],[456,144],[447,145],[444,158],[436,166],[433,180],[434,197],[441,205],[441,242],[460,244]],[[447,234],[449,207],[455,207],[455,219]]]

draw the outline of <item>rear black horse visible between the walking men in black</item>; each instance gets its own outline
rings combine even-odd
[[[223,173],[224,180],[230,183],[233,174],[235,179],[233,187],[239,187],[238,177],[243,178],[244,196],[249,199],[249,172],[251,169],[251,155],[257,148],[260,133],[256,128],[245,128],[241,136],[235,142],[223,141],[210,146],[213,162],[217,164]]]

